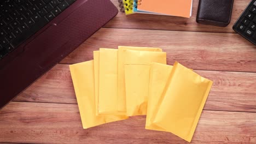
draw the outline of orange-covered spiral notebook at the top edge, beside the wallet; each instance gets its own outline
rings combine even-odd
[[[192,13],[192,0],[143,0],[138,3],[139,11],[158,13],[162,15],[172,15],[190,17]]]

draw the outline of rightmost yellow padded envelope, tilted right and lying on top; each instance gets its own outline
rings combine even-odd
[[[176,62],[153,123],[190,142],[212,83]]]

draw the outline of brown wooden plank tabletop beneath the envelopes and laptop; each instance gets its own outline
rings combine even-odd
[[[232,30],[249,0],[235,0],[224,28],[197,24],[198,2],[190,19],[119,13],[0,110],[0,143],[188,143],[145,130],[145,116],[82,128],[68,64],[119,45],[161,47],[168,64],[178,61],[214,81],[192,143],[256,143],[256,46]]]

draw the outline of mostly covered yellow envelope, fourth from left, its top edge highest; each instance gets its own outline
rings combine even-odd
[[[124,59],[125,50],[137,51],[159,51],[162,49],[154,47],[132,47],[132,46],[118,46],[118,111],[126,112],[126,98],[125,98],[125,75],[124,75]]]

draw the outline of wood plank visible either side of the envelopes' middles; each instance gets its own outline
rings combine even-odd
[[[58,64],[15,101],[77,104],[68,65]],[[205,110],[256,112],[256,73],[202,71],[213,80]]]

